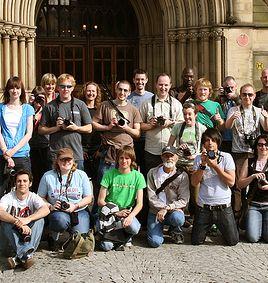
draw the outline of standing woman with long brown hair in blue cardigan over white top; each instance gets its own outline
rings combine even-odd
[[[0,104],[0,196],[5,168],[31,171],[29,140],[33,132],[34,109],[27,104],[24,85],[20,78],[11,77]]]

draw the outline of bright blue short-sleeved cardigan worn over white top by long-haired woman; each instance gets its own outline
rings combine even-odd
[[[15,138],[13,138],[9,128],[6,125],[4,119],[4,111],[7,107],[6,104],[0,103],[0,125],[1,133],[6,143],[7,149],[11,149],[16,146],[21,139],[25,136],[27,131],[27,121],[29,116],[34,115],[34,108],[29,104],[22,104],[22,116],[17,128],[17,133]],[[19,149],[13,157],[28,157],[30,152],[30,146],[27,142],[21,149]],[[3,152],[0,150],[0,154],[3,155]]]

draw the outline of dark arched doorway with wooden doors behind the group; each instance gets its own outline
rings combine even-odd
[[[138,24],[129,1],[44,0],[38,11],[37,82],[44,73],[113,84],[138,66]]]

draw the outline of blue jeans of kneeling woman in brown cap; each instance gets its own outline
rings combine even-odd
[[[70,214],[64,211],[54,211],[48,216],[49,230],[54,232],[52,237],[58,240],[59,233],[64,231],[78,231],[81,234],[88,233],[90,227],[89,213],[84,209],[78,211],[79,223],[71,226]]]

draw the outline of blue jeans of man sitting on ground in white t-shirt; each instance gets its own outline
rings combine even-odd
[[[26,259],[25,257],[27,255],[31,256],[38,248],[43,232],[44,219],[41,218],[34,222],[33,226],[31,227],[32,234],[30,242],[22,242],[20,240],[19,232],[17,232],[13,227],[14,225],[11,223],[1,223],[4,236],[9,240],[13,250],[16,252],[17,257],[19,259]]]

